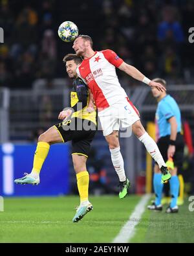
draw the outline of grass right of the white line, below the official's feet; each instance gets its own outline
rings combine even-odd
[[[194,242],[194,212],[189,211],[188,198],[179,207],[178,213],[165,213],[167,205],[163,205],[162,212],[147,210],[142,215],[140,224],[130,242]]]

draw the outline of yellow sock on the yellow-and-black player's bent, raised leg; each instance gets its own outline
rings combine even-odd
[[[33,174],[37,174],[39,176],[39,172],[43,166],[43,163],[48,155],[50,145],[47,142],[38,142],[36,147],[36,152],[34,153],[34,163],[33,163]]]

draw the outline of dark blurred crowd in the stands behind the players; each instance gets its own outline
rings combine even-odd
[[[57,34],[65,20],[89,34],[94,49],[113,49],[149,78],[189,84],[194,74],[194,45],[188,41],[193,13],[193,0],[0,0],[0,27],[5,32],[0,87],[30,89],[38,78],[66,76],[62,58],[73,52],[72,43]]]

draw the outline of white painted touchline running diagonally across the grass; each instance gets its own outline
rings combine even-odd
[[[135,226],[140,222],[149,198],[151,198],[151,194],[145,194],[142,196],[142,199],[136,205],[135,210],[131,214],[129,220],[122,227],[120,233],[115,237],[113,242],[129,242],[129,239],[131,239],[135,234]]]

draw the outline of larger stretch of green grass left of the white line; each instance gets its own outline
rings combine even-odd
[[[137,196],[91,197],[94,210],[72,223],[78,196],[5,198],[0,242],[111,242],[133,212]]]

